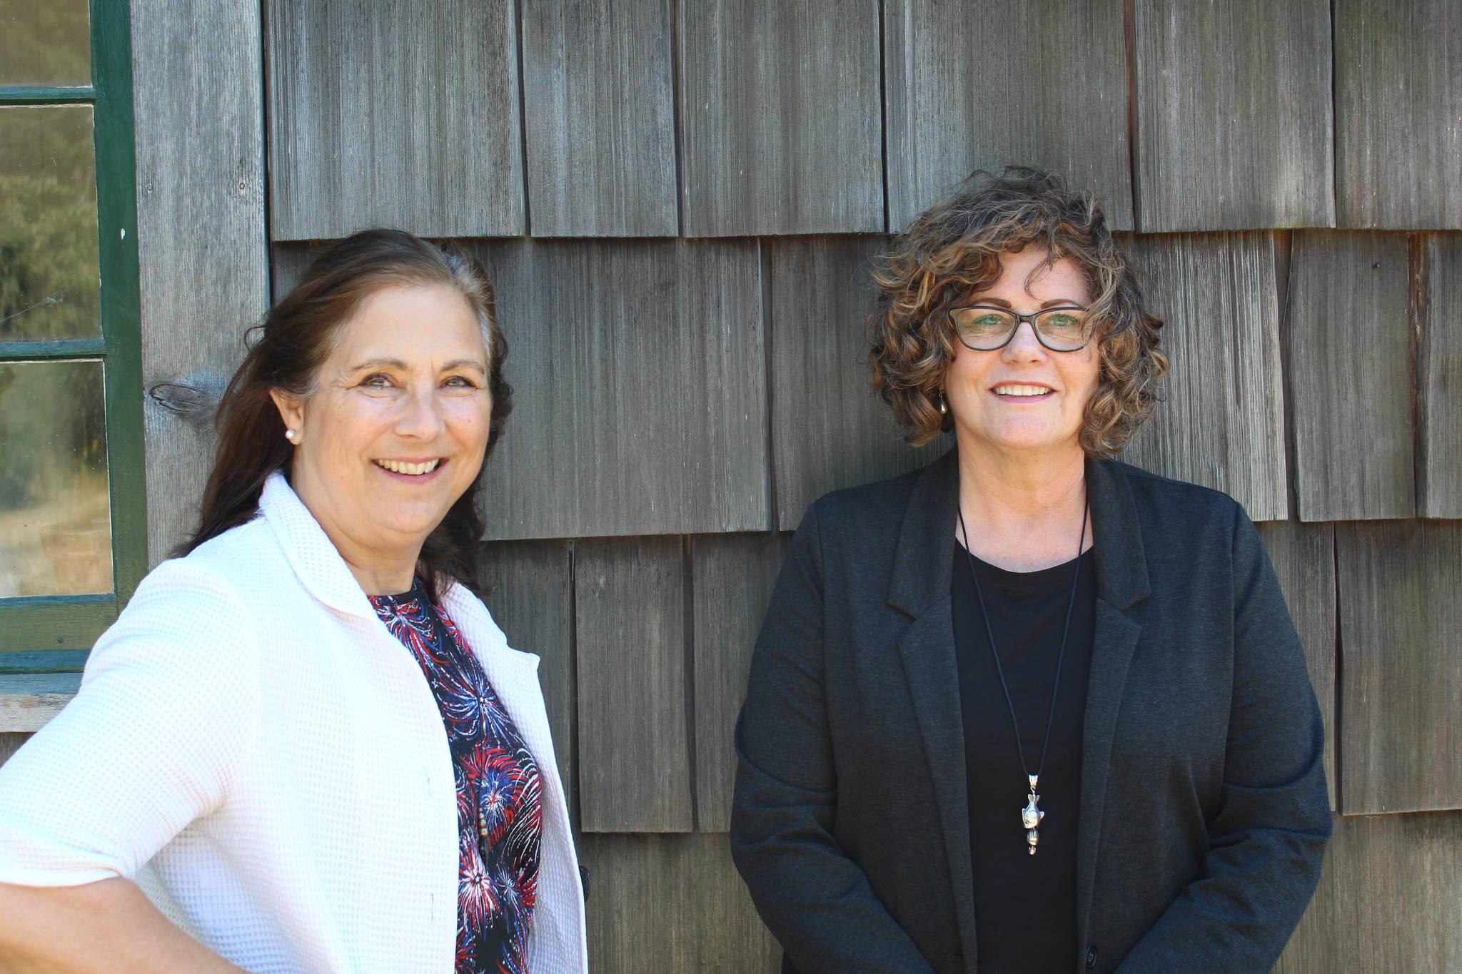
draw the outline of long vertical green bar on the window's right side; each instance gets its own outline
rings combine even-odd
[[[142,294],[127,0],[91,0],[96,86],[96,242],[101,334],[107,340],[107,469],[117,600],[148,572],[148,483],[142,440]]]

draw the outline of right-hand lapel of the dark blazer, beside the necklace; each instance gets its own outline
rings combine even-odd
[[[1082,732],[1082,808],[1076,837],[1076,933],[1083,948],[1089,942],[1111,742],[1127,685],[1127,666],[1142,637],[1142,624],[1129,610],[1152,593],[1142,527],[1121,466],[1088,460],[1086,498],[1092,508],[1096,559],[1096,625]]]

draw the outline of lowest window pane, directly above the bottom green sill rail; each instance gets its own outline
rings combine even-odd
[[[0,364],[0,599],[111,591],[98,361]]]

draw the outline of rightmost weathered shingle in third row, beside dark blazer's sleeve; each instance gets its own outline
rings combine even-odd
[[[1339,524],[1341,810],[1462,808],[1462,523]]]

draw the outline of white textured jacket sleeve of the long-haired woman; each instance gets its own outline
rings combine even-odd
[[[0,882],[130,878],[228,796],[257,713],[253,637],[190,562],[143,580],[76,698],[0,767]]]

